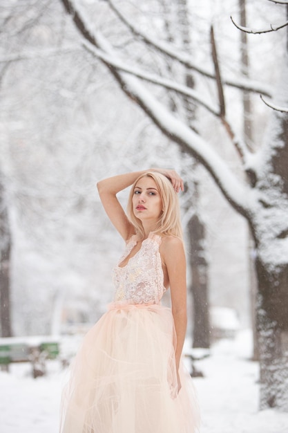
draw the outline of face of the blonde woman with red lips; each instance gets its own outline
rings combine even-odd
[[[160,191],[153,178],[144,176],[136,183],[133,193],[133,212],[141,221],[157,221],[162,212]]]

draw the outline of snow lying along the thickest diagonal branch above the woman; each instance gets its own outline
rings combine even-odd
[[[117,53],[108,40],[99,31],[93,30],[91,21],[86,17],[84,8],[81,8],[77,0],[61,0],[66,11],[72,16],[75,26],[82,36],[90,44],[102,50],[104,55],[114,57],[118,61]],[[78,8],[79,6],[79,8]],[[87,26],[87,28],[86,28]],[[108,66],[109,71],[121,86],[129,98],[137,102],[149,118],[159,129],[174,140],[184,152],[193,155],[204,167],[207,168],[215,182],[227,197],[231,205],[243,216],[249,218],[251,203],[250,189],[245,183],[239,181],[236,175],[224,162],[222,157],[208,144],[206,140],[198,136],[195,131],[189,128],[184,122],[176,118],[157,98],[143,86],[137,77],[131,74],[117,71],[115,66],[108,64],[108,58],[102,62]]]

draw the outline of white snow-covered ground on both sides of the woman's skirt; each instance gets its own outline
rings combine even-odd
[[[195,378],[202,409],[201,433],[287,433],[288,414],[258,412],[258,365],[249,361],[251,335],[214,344],[211,356],[197,362]],[[48,376],[32,379],[29,365],[0,373],[0,432],[57,433],[65,372],[57,361]]]

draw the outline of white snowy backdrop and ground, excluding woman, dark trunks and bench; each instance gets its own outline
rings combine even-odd
[[[63,334],[67,326],[71,331],[71,322],[93,324],[113,293],[111,266],[123,243],[101,208],[97,180],[160,165],[175,167],[189,181],[192,163],[124,97],[106,68],[75,42],[77,32],[58,1],[1,3],[5,31],[0,35],[0,174],[12,230],[12,329],[16,336]],[[105,2],[80,3],[91,8],[95,23],[102,25],[104,32],[126,44],[114,19],[105,21]],[[12,18],[7,19],[10,11]],[[148,24],[156,12],[157,8],[146,10]],[[268,1],[249,1],[248,12],[255,26],[262,26],[267,17],[279,21],[283,16],[283,9],[275,12]],[[200,64],[207,66],[213,21],[222,71],[231,76],[238,73],[235,44],[239,33],[229,18],[238,17],[238,13],[236,0],[191,1],[191,15],[197,23],[194,58]],[[149,31],[147,21],[144,19],[143,26]],[[251,77],[261,78],[268,86],[278,79],[274,64],[282,56],[282,34],[271,35],[265,43],[257,37],[250,39]],[[137,59],[139,53],[129,44],[127,50]],[[11,61],[22,54],[21,62]],[[146,54],[144,66],[145,62],[154,66],[151,56]],[[210,82],[197,84],[207,100],[215,98],[215,86]],[[166,98],[159,89],[155,92],[160,99]],[[240,132],[239,92],[230,91],[227,101],[231,120]],[[268,114],[258,95],[253,96],[256,147],[265,135]],[[236,152],[218,123],[203,109],[195,122],[202,136],[238,173]],[[258,412],[258,363],[251,361],[249,329],[247,223],[223,199],[204,169],[198,167],[197,177],[198,206],[207,232],[209,300],[211,306],[231,308],[240,326],[235,340],[213,343],[211,355],[196,363],[204,374],[204,378],[195,378],[202,409],[201,432],[287,433],[287,414],[273,409]],[[120,196],[124,205],[126,197],[127,192]],[[185,221],[184,205],[182,214]],[[76,347],[77,342],[73,351]],[[57,360],[48,364],[47,376],[36,380],[29,364],[12,365],[9,374],[0,371],[0,432],[57,432],[64,378],[65,370]]]

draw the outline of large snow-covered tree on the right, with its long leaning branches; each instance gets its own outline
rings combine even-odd
[[[129,8],[122,13],[122,3],[107,0],[102,20],[118,19],[119,26],[127,29],[126,38],[101,30],[101,20],[93,22],[88,6],[79,0],[61,0],[81,33],[81,44],[100,59],[119,83],[121,89],[136,102],[161,131],[173,139],[186,154],[193,156],[211,174],[224,197],[233,208],[247,219],[256,248],[258,276],[258,335],[260,347],[260,407],[288,409],[288,117],[287,113],[270,114],[265,140],[251,151],[247,143],[238,138],[226,111],[227,87],[273,95],[275,106],[288,105],[287,45],[283,49],[282,64],[278,64],[278,83],[275,88],[252,82],[247,77],[222,76],[213,28],[211,46],[215,71],[176,48],[177,42],[168,44],[160,38],[161,22],[149,28],[144,17],[135,24],[129,19]],[[285,1],[279,1],[287,5]],[[156,2],[157,4],[157,2]],[[139,5],[138,5],[139,6]],[[145,10],[145,3],[142,4]],[[124,7],[124,6],[123,6]],[[284,8],[285,6],[279,6]],[[131,9],[132,6],[131,6]],[[115,14],[111,18],[111,10]],[[147,11],[146,11],[147,12]],[[108,17],[108,18],[107,18]],[[267,17],[268,19],[268,17]],[[141,21],[142,20],[142,21]],[[144,30],[142,30],[144,29]],[[131,47],[134,48],[131,50]],[[128,49],[129,48],[129,49]],[[157,57],[157,54],[160,56]],[[215,80],[218,104],[211,102],[204,91],[198,93],[177,80],[162,75],[161,55],[168,56],[177,65],[197,71],[200,76]],[[145,64],[137,62],[145,59]],[[148,71],[149,64],[158,59],[159,73]],[[156,68],[157,69],[157,68]],[[241,162],[241,172],[233,172],[227,162],[211,146],[209,140],[189,128],[181,118],[167,107],[165,98],[159,98],[151,84],[177,94],[186,95],[195,104],[204,107],[218,118],[229,133]],[[179,100],[176,103],[179,104]],[[237,373],[236,373],[237,374]]]

